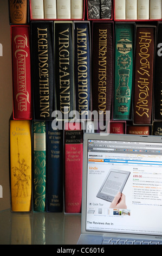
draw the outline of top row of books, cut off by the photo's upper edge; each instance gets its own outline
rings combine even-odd
[[[10,23],[29,20],[153,21],[162,19],[161,0],[9,0]]]

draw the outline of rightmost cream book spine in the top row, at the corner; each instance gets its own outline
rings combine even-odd
[[[150,19],[158,20],[162,17],[161,0],[150,0]]]

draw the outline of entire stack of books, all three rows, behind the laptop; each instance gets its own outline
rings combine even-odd
[[[12,212],[81,213],[91,113],[109,112],[110,133],[162,135],[161,2],[8,1]]]

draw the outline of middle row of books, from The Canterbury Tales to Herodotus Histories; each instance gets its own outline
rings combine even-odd
[[[11,26],[14,119],[71,120],[77,112],[88,120],[96,111],[105,120],[110,111],[134,125],[161,120],[161,26],[94,21],[92,33],[89,21]]]

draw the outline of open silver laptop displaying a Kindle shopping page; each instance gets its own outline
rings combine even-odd
[[[77,245],[162,244],[162,137],[85,133]]]

